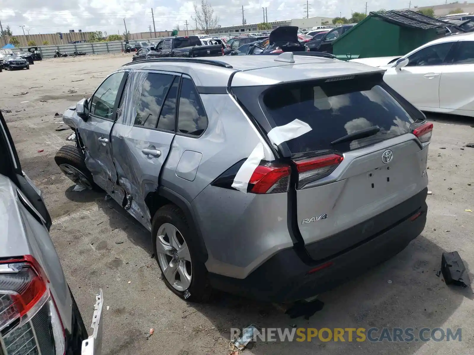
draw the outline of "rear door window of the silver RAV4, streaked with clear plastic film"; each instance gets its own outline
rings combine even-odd
[[[144,71],[134,73],[133,76],[136,82],[133,93],[134,125],[155,128],[174,76]]]

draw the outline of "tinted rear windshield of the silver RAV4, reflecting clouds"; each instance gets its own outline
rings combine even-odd
[[[352,79],[299,83],[268,89],[263,101],[276,126],[299,119],[311,131],[287,143],[292,154],[319,150],[351,151],[408,133],[414,119],[380,80]],[[331,143],[378,126],[365,138]]]

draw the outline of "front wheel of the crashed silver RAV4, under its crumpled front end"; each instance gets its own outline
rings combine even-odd
[[[82,151],[74,145],[63,146],[55,155],[55,162],[66,177],[89,190],[100,191],[101,189],[94,183],[84,159]]]

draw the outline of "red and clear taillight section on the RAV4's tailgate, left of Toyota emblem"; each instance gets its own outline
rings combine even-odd
[[[344,160],[342,155],[328,154],[314,158],[295,160],[298,169],[298,188],[308,183],[328,176]]]

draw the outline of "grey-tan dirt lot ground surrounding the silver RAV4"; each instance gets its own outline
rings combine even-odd
[[[55,113],[88,97],[130,58],[121,53],[58,58],[36,62],[29,71],[0,73],[0,108],[12,110],[4,116],[22,168],[44,193],[53,218],[51,235],[87,324],[94,294],[103,288],[103,354],[228,354],[229,329],[251,323],[265,328],[451,327],[462,328],[462,341],[258,342],[246,354],[472,353],[473,294],[447,287],[436,271],[443,251],[458,250],[474,267],[474,213],[465,211],[474,211],[474,149],[462,148],[474,141],[474,119],[429,116],[436,122],[425,231],[383,265],[320,295],[325,307],[309,320],[290,319],[272,304],[226,294],[209,305],[187,304],[161,281],[148,232],[118,204],[105,201],[104,194],[72,191],[73,183],[53,160],[71,132],[56,131],[61,119]],[[15,96],[21,92],[27,94]],[[155,334],[147,340],[150,328]]]

